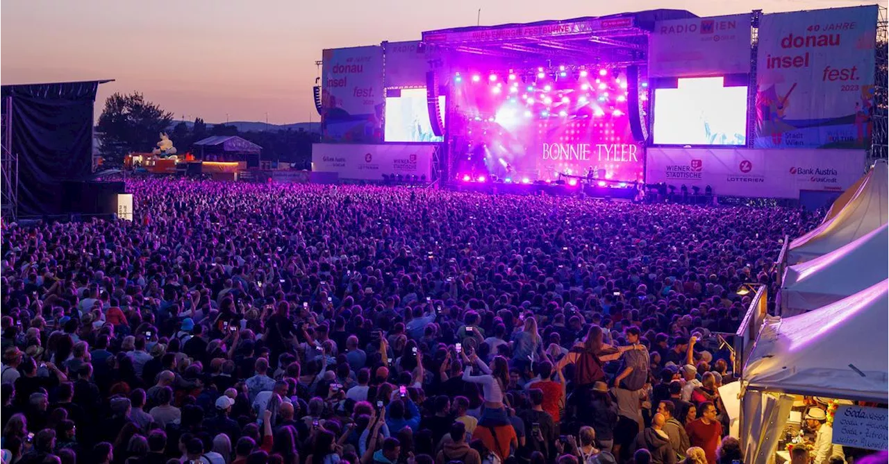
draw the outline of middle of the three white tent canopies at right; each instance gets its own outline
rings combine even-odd
[[[781,287],[784,317],[821,308],[889,279],[889,223],[812,261],[790,266]]]

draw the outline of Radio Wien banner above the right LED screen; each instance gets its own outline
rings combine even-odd
[[[648,36],[649,77],[712,77],[749,72],[749,13],[658,21]]]

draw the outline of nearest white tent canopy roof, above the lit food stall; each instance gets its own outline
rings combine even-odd
[[[744,368],[748,389],[889,400],[889,279],[837,303],[768,319]]]

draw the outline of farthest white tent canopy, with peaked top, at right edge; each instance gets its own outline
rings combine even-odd
[[[790,243],[788,263],[826,255],[889,223],[889,162],[877,160],[858,191],[836,216]]]

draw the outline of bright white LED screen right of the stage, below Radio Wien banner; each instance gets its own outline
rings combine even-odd
[[[745,145],[747,87],[701,77],[655,89],[653,132],[656,145]]]

